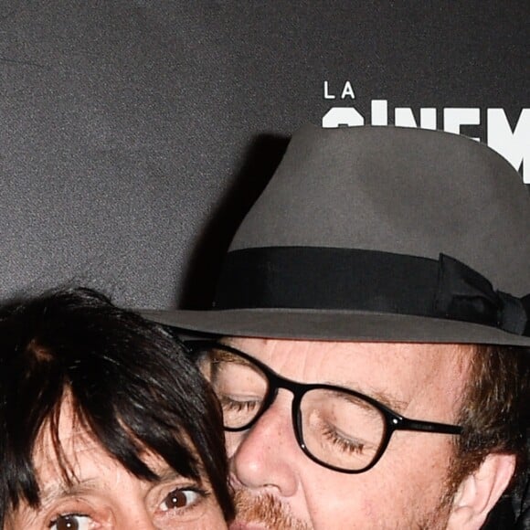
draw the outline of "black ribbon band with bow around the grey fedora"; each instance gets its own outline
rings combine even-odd
[[[496,292],[449,256],[327,247],[266,247],[228,253],[214,309],[314,309],[482,323],[530,335],[530,295]]]

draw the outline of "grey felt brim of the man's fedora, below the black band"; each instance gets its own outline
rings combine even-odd
[[[530,346],[491,326],[395,313],[334,310],[140,310],[144,318],[197,334],[292,340]]]

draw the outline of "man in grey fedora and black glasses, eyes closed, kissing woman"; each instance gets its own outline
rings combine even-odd
[[[481,528],[525,472],[530,197],[481,143],[295,133],[210,311],[234,530]]]

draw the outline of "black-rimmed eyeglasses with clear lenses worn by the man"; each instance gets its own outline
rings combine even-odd
[[[203,374],[217,393],[225,429],[250,429],[279,388],[292,392],[292,425],[302,451],[337,472],[374,467],[395,430],[461,434],[458,425],[408,419],[376,399],[332,385],[302,384],[282,377],[250,355],[212,341],[190,341]]]

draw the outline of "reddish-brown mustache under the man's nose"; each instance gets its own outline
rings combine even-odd
[[[267,528],[281,528],[281,530],[312,530],[313,528],[294,517],[290,508],[270,493],[253,495],[244,490],[238,490],[234,495],[234,501],[236,520],[240,523],[260,524]]]

